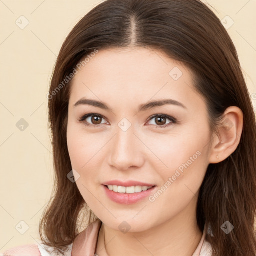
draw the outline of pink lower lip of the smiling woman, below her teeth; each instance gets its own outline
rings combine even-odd
[[[121,204],[132,204],[132,203],[138,202],[143,198],[149,196],[155,190],[155,188],[156,186],[146,191],[141,191],[138,193],[118,193],[118,192],[109,190],[106,185],[103,185],[103,189],[105,190],[108,198],[114,202],[121,203]]]

